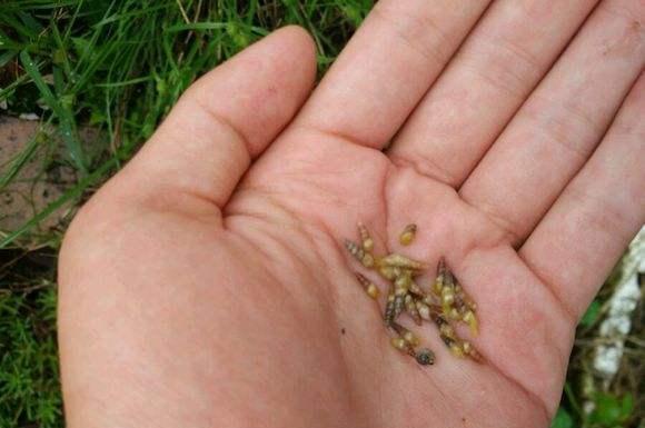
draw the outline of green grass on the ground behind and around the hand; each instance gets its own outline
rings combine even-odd
[[[41,117],[41,131],[0,165],[0,191],[42,151],[54,153],[43,169],[64,165],[76,177],[60,198],[23,225],[0,231],[0,427],[63,425],[54,260],[64,228],[48,230],[41,222],[61,207],[80,203],[120,168],[205,71],[272,29],[297,23],[314,36],[322,73],[371,6],[371,0],[0,3],[0,102],[7,103],[10,115]],[[106,138],[83,142],[83,127],[98,129]],[[603,305],[615,283],[615,277],[608,280],[596,306]],[[643,331],[642,325],[638,329]],[[584,379],[589,374],[591,346],[585,344],[597,335],[597,319],[578,332],[583,342],[574,350],[554,426],[635,427],[637,411],[624,414],[628,401],[638,402],[642,395],[625,381],[625,374],[637,370],[638,376],[642,369],[627,365],[621,380],[589,398]],[[607,415],[618,411],[618,416],[589,420],[582,410],[588,399],[601,404],[597,407]]]

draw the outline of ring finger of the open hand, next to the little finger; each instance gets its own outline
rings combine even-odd
[[[460,189],[522,241],[591,156],[645,64],[645,3],[604,1]]]

